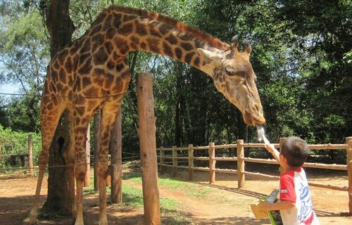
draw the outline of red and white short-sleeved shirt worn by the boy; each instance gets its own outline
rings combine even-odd
[[[289,210],[280,210],[284,225],[320,224],[313,210],[306,172],[302,167],[281,174],[279,200],[296,203]]]

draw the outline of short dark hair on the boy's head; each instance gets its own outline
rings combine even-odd
[[[282,142],[280,153],[287,158],[287,164],[291,167],[301,167],[309,155],[309,148],[306,141],[291,136]]]

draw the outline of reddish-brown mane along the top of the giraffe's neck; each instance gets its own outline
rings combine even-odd
[[[215,38],[206,32],[202,32],[199,29],[190,27],[180,22],[179,20],[175,20],[173,18],[162,15],[160,13],[146,11],[146,9],[132,8],[127,6],[115,6],[115,5],[109,6],[108,8],[104,9],[102,13],[108,12],[108,11],[119,11],[122,13],[130,13],[133,15],[139,15],[142,17],[151,18],[153,20],[160,21],[161,23],[165,23],[172,27],[176,27],[178,30],[181,30],[182,32],[186,32],[187,34],[190,34],[191,36],[197,39],[206,41],[208,44],[210,44],[211,46],[214,46],[217,49],[226,51],[230,48],[229,44],[222,42],[220,39]]]

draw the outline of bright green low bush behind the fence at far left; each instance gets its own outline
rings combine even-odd
[[[23,155],[28,153],[28,134],[25,132],[4,129],[0,124],[0,148],[1,155]],[[32,134],[33,164],[38,164],[40,150],[42,150],[42,137],[40,134]],[[1,162],[0,162],[1,163]],[[3,163],[1,163],[3,165]]]

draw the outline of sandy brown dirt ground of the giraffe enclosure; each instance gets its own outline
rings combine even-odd
[[[260,169],[260,168],[259,168]],[[345,172],[313,172],[308,170],[310,181],[336,186],[348,186]],[[170,177],[170,174],[159,174]],[[186,181],[186,171],[178,172],[175,179]],[[270,224],[268,219],[256,220],[251,212],[250,204],[258,203],[260,198],[277,188],[278,181],[263,181],[246,177],[246,186],[237,188],[237,176],[233,174],[216,174],[215,184],[208,184],[208,173],[195,172],[192,183],[201,188],[212,187],[211,198],[199,199],[188,197],[181,191],[170,191],[159,188],[161,198],[170,198],[182,205],[187,214],[187,224]],[[34,198],[37,178],[28,174],[0,174],[0,224],[26,224]],[[130,182],[131,181],[122,181]],[[132,184],[139,186],[139,184]],[[46,199],[47,184],[44,181],[40,204]],[[142,187],[140,187],[142,188]],[[326,188],[310,187],[313,206],[321,224],[352,224],[352,217],[347,217],[348,193]],[[85,224],[98,224],[98,195],[84,195]],[[143,224],[143,208],[118,207],[108,205],[109,224]],[[72,224],[70,219],[39,219],[39,224]]]

